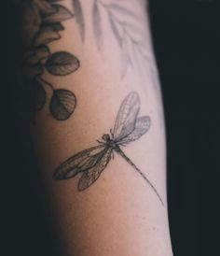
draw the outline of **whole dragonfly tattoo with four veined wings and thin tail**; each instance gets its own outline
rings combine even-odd
[[[110,130],[110,135],[103,135],[103,141],[98,140],[98,146],[78,152],[67,159],[55,170],[53,178],[56,180],[74,178],[82,173],[78,181],[78,191],[85,191],[100,178],[107,164],[111,159],[114,159],[114,152],[117,152],[144,178],[153,191],[156,192],[159,201],[164,206],[158,191],[150,180],[120,148],[139,139],[150,128],[150,117],[138,117],[140,106],[138,93],[131,92],[119,108],[116,124],[114,129]]]

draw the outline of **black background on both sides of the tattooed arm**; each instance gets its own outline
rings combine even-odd
[[[32,161],[25,160],[15,117],[13,72],[18,63],[18,37],[13,20],[16,12],[9,5],[7,10],[7,46],[2,52],[6,54],[8,85],[2,89],[5,108],[1,113],[5,128],[1,138],[2,166],[6,166],[1,170],[6,246],[2,255],[55,255],[35,176],[29,172]],[[152,0],[150,13],[167,123],[174,255],[215,255],[212,251],[217,236],[205,231],[205,226],[215,225],[211,201],[217,190],[210,190],[220,169],[220,8],[217,1]]]

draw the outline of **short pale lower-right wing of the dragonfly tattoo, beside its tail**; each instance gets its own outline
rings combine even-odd
[[[133,132],[130,135],[119,140],[118,144],[126,145],[131,141],[139,139],[142,135],[144,135],[150,129],[150,124],[151,124],[150,117],[144,116],[144,117],[138,118]]]

